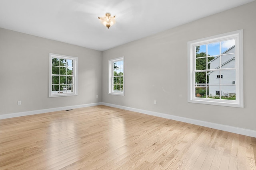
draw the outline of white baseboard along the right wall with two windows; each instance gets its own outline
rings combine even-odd
[[[157,116],[157,117],[163,117],[163,118],[166,118],[166,119],[182,121],[182,122],[191,123],[191,124],[194,124],[194,125],[210,127],[210,128],[213,128],[213,129],[228,131],[228,132],[237,133],[237,134],[240,134],[240,135],[256,137],[256,131],[250,130],[250,129],[243,129],[243,128],[240,128],[240,127],[233,127],[233,126],[222,125],[222,124],[218,124],[218,123],[200,121],[200,120],[190,119],[190,118],[186,118],[186,117],[180,117],[180,116],[169,115],[169,114],[165,114],[165,113],[158,113],[158,112],[154,112],[154,111],[136,109],[136,108],[132,108],[132,107],[120,106],[120,105],[109,104],[109,103],[104,103],[104,102],[102,102],[102,105],[110,106],[110,107],[116,107],[116,108],[119,108],[119,109],[124,109],[124,110],[129,110],[129,111],[135,111],[135,112],[138,112],[138,113],[144,113],[144,114],[147,114],[147,115],[153,115],[153,116]]]

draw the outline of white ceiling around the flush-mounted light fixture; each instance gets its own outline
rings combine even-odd
[[[104,51],[254,0],[0,0],[0,27]],[[98,17],[116,15],[107,29]]]

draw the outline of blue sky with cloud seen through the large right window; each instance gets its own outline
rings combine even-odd
[[[235,39],[222,41],[221,42],[221,53],[225,52],[227,49],[235,45]],[[200,50],[198,53],[206,53],[206,45],[200,45]],[[220,55],[220,42],[208,44],[208,55]]]

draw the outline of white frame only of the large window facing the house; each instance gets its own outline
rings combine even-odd
[[[235,39],[236,45],[236,100],[197,98],[195,96],[196,46]],[[207,71],[207,69],[206,69]],[[218,106],[244,107],[243,94],[243,30],[232,31],[188,42],[188,102]]]

